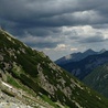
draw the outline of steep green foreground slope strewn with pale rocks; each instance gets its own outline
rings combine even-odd
[[[107,99],[42,52],[32,50],[3,30],[0,30],[0,78],[1,94],[33,108],[108,108]],[[3,98],[6,100],[4,95]],[[9,101],[11,104],[12,99]]]

